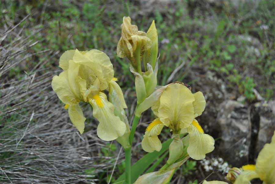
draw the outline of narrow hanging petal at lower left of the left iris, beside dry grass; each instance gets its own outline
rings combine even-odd
[[[75,125],[80,134],[82,134],[84,131],[84,122],[86,118],[84,118],[79,104],[69,105],[68,112],[71,122]]]

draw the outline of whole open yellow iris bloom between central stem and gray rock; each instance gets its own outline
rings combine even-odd
[[[205,109],[206,102],[201,92],[192,94],[191,90],[182,83],[173,83],[165,86],[160,98],[155,101],[152,111],[159,119],[150,123],[146,129],[141,144],[145,151],[153,152],[161,149],[157,135],[160,134],[163,126],[169,127],[174,137],[177,134],[188,132],[185,144],[188,146],[187,153],[191,158],[201,160],[205,158],[206,153],[213,151],[214,139],[204,134],[199,123],[194,119],[200,116]],[[180,143],[178,147],[182,147]]]

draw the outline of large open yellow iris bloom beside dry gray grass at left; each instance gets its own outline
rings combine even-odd
[[[99,50],[68,50],[60,57],[59,66],[64,71],[53,77],[52,87],[66,104],[71,122],[79,132],[83,133],[86,120],[79,106],[82,101],[93,107],[93,115],[99,121],[99,138],[111,141],[122,136],[127,123],[118,117],[121,112],[115,115],[114,105],[103,92],[109,90],[109,99],[117,99],[116,109],[127,108],[109,57]]]

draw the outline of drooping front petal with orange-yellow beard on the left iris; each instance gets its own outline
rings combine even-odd
[[[124,134],[126,125],[114,115],[114,105],[100,92],[89,99],[93,106],[93,115],[99,121],[97,135],[104,141],[112,141]]]

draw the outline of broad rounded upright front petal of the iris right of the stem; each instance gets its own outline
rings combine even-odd
[[[171,84],[160,96],[160,121],[174,130],[189,127],[194,118],[194,100],[193,94],[186,86]]]

